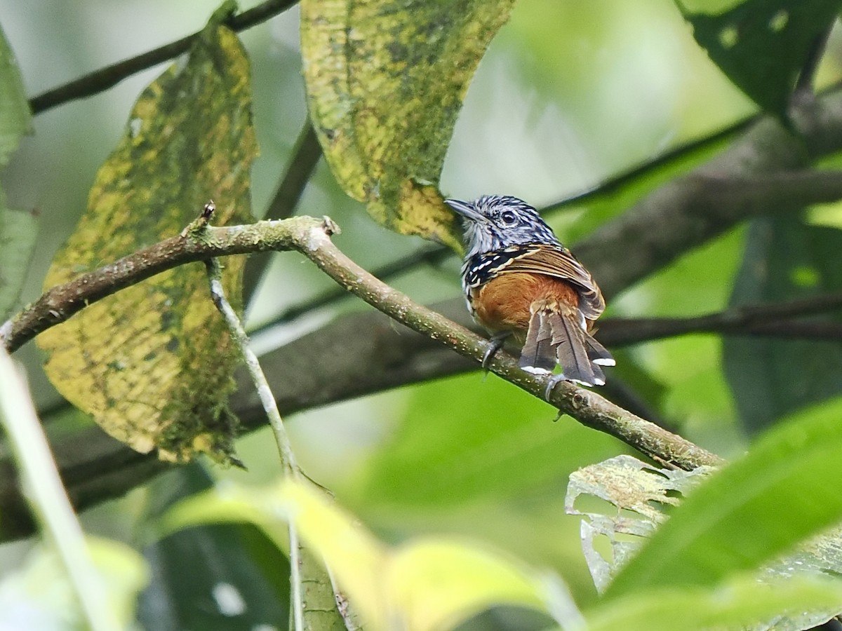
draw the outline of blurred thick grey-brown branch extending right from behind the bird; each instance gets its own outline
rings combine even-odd
[[[791,119],[800,135],[763,119],[710,162],[574,244],[605,294],[621,292],[744,220],[839,199],[838,173],[802,169],[842,150],[842,94],[802,103]]]

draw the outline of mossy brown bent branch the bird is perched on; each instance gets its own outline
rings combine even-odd
[[[212,227],[202,225],[144,248],[134,254],[49,289],[29,308],[0,326],[0,340],[9,352],[41,331],[66,321],[86,305],[166,269],[212,257],[269,250],[297,250],[338,284],[394,320],[436,340],[456,353],[482,361],[488,342],[457,325],[360,268],[333,245],[330,236],[338,227],[327,217],[293,217],[258,221],[249,225]],[[498,353],[493,373],[533,395],[541,397],[546,377],[525,373],[514,358]],[[682,469],[719,464],[712,453],[623,410],[597,393],[564,382],[552,392],[552,405],[579,422],[620,438],[662,463]]]

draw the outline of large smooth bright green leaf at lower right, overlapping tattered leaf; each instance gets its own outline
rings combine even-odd
[[[691,493],[616,575],[605,597],[716,585],[839,522],[840,456],[842,400],[793,416]]]

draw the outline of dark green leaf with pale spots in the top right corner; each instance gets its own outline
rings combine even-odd
[[[711,14],[675,2],[711,61],[761,108],[781,117],[811,48],[842,6],[839,0],[744,0]]]

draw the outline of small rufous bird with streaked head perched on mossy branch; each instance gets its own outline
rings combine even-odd
[[[461,283],[468,310],[491,334],[483,368],[512,336],[521,345],[520,368],[552,374],[561,367],[545,399],[562,380],[605,385],[602,367],[616,362],[593,337],[605,299],[538,211],[509,195],[445,204],[461,215],[465,231]]]

